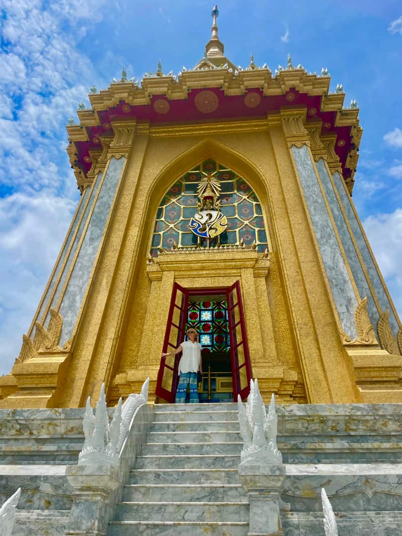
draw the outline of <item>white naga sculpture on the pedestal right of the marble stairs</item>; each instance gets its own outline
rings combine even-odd
[[[269,464],[281,464],[282,455],[278,450],[278,415],[275,397],[272,393],[268,415],[263,398],[258,389],[258,380],[250,381],[250,394],[245,407],[240,395],[237,397],[239,407],[240,434],[243,438],[241,464],[252,461],[264,461]]]

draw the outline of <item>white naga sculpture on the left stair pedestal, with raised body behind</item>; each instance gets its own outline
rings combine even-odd
[[[127,437],[132,416],[137,407],[147,403],[149,385],[150,378],[147,378],[140,394],[129,394],[124,404],[120,398],[110,425],[106,408],[105,384],[103,383],[101,387],[95,415],[91,407],[91,397],[88,397],[83,420],[85,441],[78,455],[78,465],[104,463],[118,465],[120,451]]]

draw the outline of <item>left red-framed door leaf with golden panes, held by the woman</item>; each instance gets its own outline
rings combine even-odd
[[[175,283],[173,286],[172,300],[170,301],[162,352],[170,352],[183,342],[188,303],[189,292],[187,289]],[[170,404],[173,404],[175,401],[178,383],[178,363],[180,362],[181,355],[181,353],[167,355],[161,358],[160,362],[155,394]]]

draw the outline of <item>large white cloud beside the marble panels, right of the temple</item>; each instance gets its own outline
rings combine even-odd
[[[363,226],[391,298],[402,316],[402,208],[390,214],[369,216]]]

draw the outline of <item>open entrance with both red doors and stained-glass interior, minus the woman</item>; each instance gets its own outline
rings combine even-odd
[[[240,283],[227,288],[186,289],[175,283],[170,301],[163,352],[177,348],[189,327],[202,345],[203,374],[198,383],[200,402],[233,402],[248,396],[250,355]],[[181,353],[161,359],[156,394],[173,403]]]

